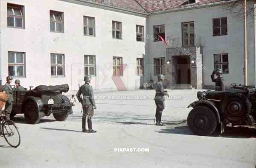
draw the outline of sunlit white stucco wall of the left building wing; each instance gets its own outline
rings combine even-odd
[[[7,28],[7,3],[25,6],[25,29]],[[64,12],[64,34],[50,32],[50,10]],[[0,12],[3,83],[8,75],[8,51],[18,51],[26,53],[26,78],[20,78],[24,87],[67,83],[77,90],[83,83],[84,55],[96,56],[97,76],[92,80],[96,89],[116,88],[111,78],[113,56],[122,56],[123,64],[129,64],[121,77],[125,87],[139,87],[136,58],[145,54],[145,42],[136,41],[136,25],[145,26],[145,16],[60,0],[0,0]],[[96,37],[83,35],[83,16],[95,17]],[[112,39],[112,21],[122,22],[122,40]],[[65,77],[50,76],[50,53],[65,54]],[[105,64],[111,64],[110,68]]]

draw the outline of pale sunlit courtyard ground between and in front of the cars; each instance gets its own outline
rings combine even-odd
[[[185,120],[190,109],[186,106],[196,100],[197,91],[169,91],[171,97],[163,113],[165,126],[154,126],[154,90],[97,92],[95,134],[81,132],[78,102],[73,115],[64,122],[50,115],[29,125],[23,115],[17,115],[14,120],[21,144],[10,148],[0,138],[0,167],[255,168],[255,129],[228,127],[224,134],[209,137],[189,131]]]

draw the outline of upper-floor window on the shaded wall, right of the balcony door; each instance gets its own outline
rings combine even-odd
[[[213,36],[227,35],[227,17],[212,19]]]

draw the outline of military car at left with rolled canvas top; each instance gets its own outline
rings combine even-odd
[[[68,84],[45,86],[40,85],[35,89],[14,91],[13,108],[11,117],[16,114],[24,114],[29,124],[36,124],[44,116],[53,114],[57,121],[64,121],[72,114],[72,106],[76,99],[74,95],[68,98],[63,92],[68,92]]]

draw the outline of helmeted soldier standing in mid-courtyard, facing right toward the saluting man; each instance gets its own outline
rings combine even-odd
[[[164,96],[167,95],[169,97],[169,95],[167,91],[163,90],[163,80],[164,80],[163,74],[158,74],[157,79],[158,81],[155,85],[156,94],[154,98],[155,104],[157,106],[155,120],[156,120],[156,125],[163,126],[161,119],[162,119],[162,113],[164,109],[164,101],[165,101]]]

